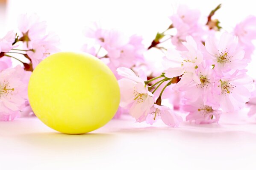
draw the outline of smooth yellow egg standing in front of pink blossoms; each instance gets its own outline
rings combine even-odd
[[[28,87],[35,115],[62,133],[87,133],[115,115],[120,102],[112,71],[90,54],[60,52],[33,71]]]

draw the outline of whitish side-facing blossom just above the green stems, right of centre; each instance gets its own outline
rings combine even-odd
[[[187,42],[182,44],[187,48],[188,51],[175,51],[168,50],[166,57],[164,57],[163,65],[166,69],[165,76],[169,78],[181,76],[182,78],[179,85],[186,85],[194,80],[200,83],[200,79],[196,75],[198,65],[203,61],[203,55],[197,48],[197,43],[191,36],[188,36]]]

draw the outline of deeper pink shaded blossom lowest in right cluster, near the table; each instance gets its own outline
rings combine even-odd
[[[196,102],[181,106],[182,111],[188,112],[187,121],[194,121],[196,124],[215,123],[219,121],[221,111],[212,109],[211,106],[204,105],[202,99]]]

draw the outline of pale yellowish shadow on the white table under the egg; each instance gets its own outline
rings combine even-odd
[[[95,150],[114,145],[117,137],[108,133],[85,133],[70,135],[57,132],[26,133],[15,136],[22,144],[40,150],[54,150],[55,152]]]

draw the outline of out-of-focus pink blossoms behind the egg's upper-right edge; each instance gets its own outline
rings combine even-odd
[[[113,73],[118,77],[116,69],[118,67],[131,68],[137,62],[142,62],[145,47],[142,44],[142,37],[132,35],[128,37],[121,31],[115,29],[106,30],[95,24],[94,28],[85,29],[85,36],[93,38],[96,45],[100,45],[99,50],[88,48],[85,45],[83,51],[88,52],[104,60]],[[104,50],[103,55],[100,51]],[[97,52],[96,52],[97,51]]]

